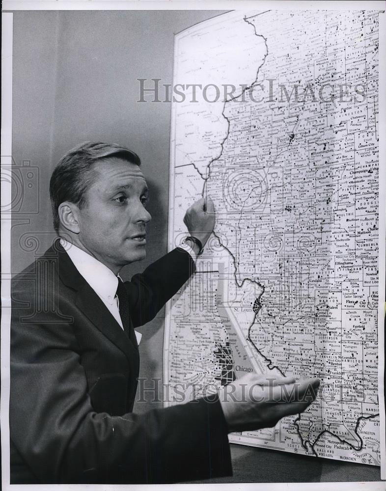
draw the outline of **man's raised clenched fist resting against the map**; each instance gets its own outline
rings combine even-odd
[[[215,205],[209,196],[201,198],[188,209],[184,217],[190,235],[205,246],[215,227]]]

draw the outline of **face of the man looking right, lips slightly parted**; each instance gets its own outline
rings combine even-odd
[[[144,208],[147,185],[138,165],[119,158],[97,162],[93,170],[95,182],[78,212],[78,240],[117,273],[146,257],[145,226],[151,219]]]

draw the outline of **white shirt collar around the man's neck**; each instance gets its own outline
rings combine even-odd
[[[60,245],[69,255],[74,266],[82,274],[94,292],[108,303],[115,297],[118,287],[118,277],[98,259],[64,239]]]

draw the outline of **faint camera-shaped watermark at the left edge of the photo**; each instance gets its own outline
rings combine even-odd
[[[10,187],[1,215],[37,215],[39,213],[39,167],[24,160],[17,165],[12,156],[1,156],[1,183]]]

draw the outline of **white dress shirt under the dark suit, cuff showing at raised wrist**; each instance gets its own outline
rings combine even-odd
[[[103,303],[109,309],[110,314],[123,329],[122,319],[119,314],[119,301],[115,295],[118,287],[118,277],[115,276],[115,274],[107,266],[98,261],[98,259],[91,256],[79,247],[70,244],[64,239],[60,239],[60,245],[69,255],[75,268],[87,281],[98,297],[103,301]],[[188,246],[187,244],[182,244],[179,247],[189,252],[193,258],[193,261],[196,261],[197,255],[192,247]],[[136,333],[137,343],[139,345],[142,334],[136,330],[134,332]]]

